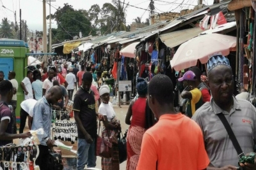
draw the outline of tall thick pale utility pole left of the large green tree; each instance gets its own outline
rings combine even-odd
[[[43,46],[44,46],[44,53],[47,53],[47,25],[46,25],[45,0],[43,0]],[[44,55],[44,62],[45,64],[47,64],[47,55]]]

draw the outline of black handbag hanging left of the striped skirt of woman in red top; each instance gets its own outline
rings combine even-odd
[[[119,155],[119,164],[124,162],[127,159],[127,148],[126,148],[126,135],[127,131],[125,131],[125,134],[123,136],[122,132],[122,138],[118,139],[118,155]]]

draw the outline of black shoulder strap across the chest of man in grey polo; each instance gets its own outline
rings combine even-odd
[[[230,125],[228,124],[227,118],[225,118],[225,115],[223,115],[223,113],[219,113],[217,114],[217,116],[220,118],[222,124],[224,125],[226,131],[228,132],[228,136],[232,141],[234,148],[236,149],[237,155],[239,159],[241,159],[244,156],[244,152],[241,149],[241,146],[239,145],[234,132],[232,131]],[[243,167],[239,167],[238,169],[243,169]]]

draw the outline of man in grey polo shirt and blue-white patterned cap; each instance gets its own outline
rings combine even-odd
[[[234,79],[229,60],[222,55],[212,55],[207,62],[209,89],[212,98],[196,110],[192,119],[201,127],[205,150],[211,169],[237,169],[239,157],[228,133],[217,114],[227,118],[243,152],[253,152],[256,141],[256,110],[248,101],[233,96]],[[241,164],[246,169],[256,169],[253,164]]]

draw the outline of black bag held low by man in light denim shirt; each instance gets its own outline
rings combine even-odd
[[[61,153],[56,152],[55,150],[50,150],[49,158],[48,158],[48,169],[49,170],[62,170],[62,158]]]

